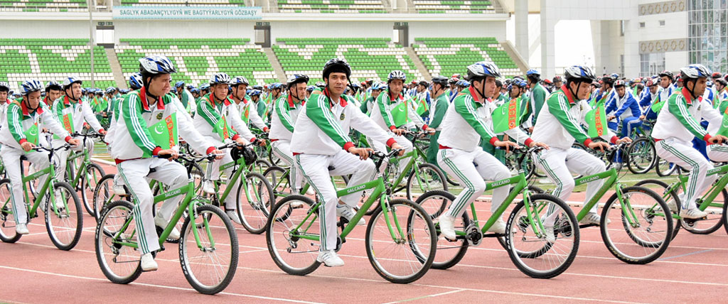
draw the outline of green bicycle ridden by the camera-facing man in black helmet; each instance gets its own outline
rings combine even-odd
[[[375,153],[377,167],[388,154]],[[389,200],[384,179],[336,191],[337,196],[373,189],[369,199],[348,224],[341,221],[342,231],[336,250],[341,248],[366,210],[379,200],[381,208],[370,217],[365,234],[365,248],[369,262],[387,281],[410,283],[424,276],[435,259],[435,225],[419,205],[407,199]],[[278,267],[286,273],[304,276],[315,271],[321,263],[316,261],[320,248],[319,208],[322,202],[306,196],[292,195],[273,207],[266,223],[268,251]]]

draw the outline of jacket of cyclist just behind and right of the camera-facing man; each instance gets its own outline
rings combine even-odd
[[[395,121],[392,116],[392,109],[397,107],[397,105],[400,105],[400,103],[407,103],[407,123],[395,126]],[[371,109],[371,119],[379,125],[382,129],[385,130],[392,130],[397,129],[397,127],[403,127],[411,128],[415,125],[417,127],[420,127],[422,129],[427,129],[427,124],[424,124],[424,121],[422,121],[422,118],[417,115],[417,112],[414,111],[414,100],[411,99],[409,96],[403,96],[401,93],[399,96],[394,97],[392,99],[389,96],[389,89],[385,89],[381,93],[379,93],[379,97],[376,98],[376,105],[374,105]]]

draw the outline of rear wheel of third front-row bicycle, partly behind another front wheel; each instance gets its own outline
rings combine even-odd
[[[449,192],[427,191],[417,199],[416,204],[419,204],[430,215],[430,219],[434,221],[448,210],[448,206],[452,204],[454,199],[455,196]],[[470,225],[470,219],[467,217],[467,212],[463,212],[463,216],[455,220],[454,228],[456,231],[465,231],[468,225]],[[432,261],[432,268],[448,269],[457,265],[465,256],[470,243],[465,238],[458,238],[456,241],[440,238],[438,226],[435,226],[435,231],[438,231],[438,243],[436,245],[438,253],[435,255],[435,260]]]

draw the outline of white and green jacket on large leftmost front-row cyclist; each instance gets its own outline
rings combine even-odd
[[[210,153],[215,150],[213,143],[205,139],[191,124],[175,95],[170,93],[159,97],[156,103],[149,103],[145,89],[141,88],[124,95],[118,105],[120,115],[106,135],[107,138],[111,137],[109,153],[116,159],[117,164],[130,159],[157,156],[162,148],[151,136],[149,127],[165,120],[173,113],[177,116],[174,127],[179,137],[199,153]]]

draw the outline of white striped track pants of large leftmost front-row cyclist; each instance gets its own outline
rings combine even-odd
[[[180,188],[189,183],[187,170],[182,164],[167,159],[132,159],[118,164],[119,175],[124,179],[134,197],[134,220],[137,227],[139,249],[144,255],[159,250],[157,228],[154,227],[154,196],[145,177],[169,185],[170,189]],[[150,172],[154,169],[154,172]],[[162,204],[159,213],[165,220],[170,220],[172,212],[177,208],[184,196],[175,196]]]

